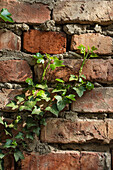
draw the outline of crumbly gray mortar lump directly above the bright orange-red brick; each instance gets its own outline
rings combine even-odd
[[[48,20],[45,23],[40,24],[40,26],[34,25],[33,28],[40,31],[57,31],[57,32],[60,32],[62,29],[61,26],[55,26],[54,20]]]

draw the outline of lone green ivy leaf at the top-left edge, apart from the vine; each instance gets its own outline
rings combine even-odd
[[[14,22],[11,18],[11,14],[8,12],[6,8],[3,8],[0,12],[0,18],[2,18],[5,22]]]

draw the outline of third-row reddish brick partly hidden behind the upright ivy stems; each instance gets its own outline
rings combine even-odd
[[[48,82],[54,82],[56,78],[61,78],[68,82],[71,74],[78,75],[81,60],[65,59],[64,65],[66,67],[56,68],[54,71],[48,71],[46,78]],[[35,78],[40,81],[42,75],[42,67],[35,66]],[[113,59],[92,59],[88,60],[84,65],[83,72],[89,81],[96,81],[99,83],[113,83]]]

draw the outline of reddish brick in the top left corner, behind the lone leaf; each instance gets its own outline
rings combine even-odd
[[[43,23],[50,20],[50,10],[41,3],[18,2],[17,0],[2,0],[0,8],[7,8],[17,23]]]

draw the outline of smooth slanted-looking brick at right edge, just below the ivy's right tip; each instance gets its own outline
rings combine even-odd
[[[76,112],[113,113],[113,87],[100,87],[87,91],[72,103],[71,109]]]

